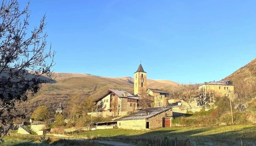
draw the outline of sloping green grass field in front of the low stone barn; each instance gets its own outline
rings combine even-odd
[[[159,128],[156,130],[124,130],[124,129],[108,129],[85,131],[73,137],[116,137],[125,136],[132,138],[138,137],[169,137],[178,139],[190,139],[196,146],[217,146],[218,143],[226,145],[241,146],[241,140],[246,146],[256,146],[256,125],[234,125],[234,126],[218,126],[218,127],[170,127]]]

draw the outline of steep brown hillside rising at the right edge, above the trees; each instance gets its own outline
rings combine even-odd
[[[222,80],[237,80],[244,78],[245,80],[255,80],[256,79],[256,58],[253,59],[251,62],[243,66],[242,68],[238,69],[236,72],[230,74],[229,76],[225,77]]]

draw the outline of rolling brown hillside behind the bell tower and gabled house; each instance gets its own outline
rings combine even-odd
[[[38,103],[39,106],[46,105],[55,110],[60,101],[64,107],[72,95],[84,93],[94,99],[104,95],[108,89],[122,89],[133,93],[133,78],[110,78],[99,77],[91,74],[76,73],[54,73],[56,76],[55,84],[44,84],[42,89],[29,99],[31,106]],[[167,80],[147,80],[147,88],[158,88],[170,91],[178,83]]]

